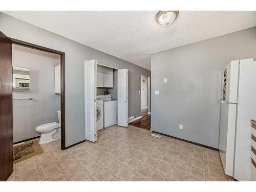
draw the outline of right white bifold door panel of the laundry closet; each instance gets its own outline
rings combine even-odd
[[[117,124],[128,126],[128,70],[117,72]]]

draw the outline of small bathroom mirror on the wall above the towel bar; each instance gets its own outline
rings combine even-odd
[[[12,90],[29,91],[29,68],[12,67]]]

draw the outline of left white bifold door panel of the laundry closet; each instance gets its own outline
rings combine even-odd
[[[86,139],[97,140],[96,131],[96,78],[97,61],[84,61],[84,109],[86,124]]]

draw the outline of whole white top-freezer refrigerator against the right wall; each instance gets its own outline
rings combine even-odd
[[[222,72],[219,152],[225,174],[250,181],[250,120],[256,118],[256,61],[234,60]]]

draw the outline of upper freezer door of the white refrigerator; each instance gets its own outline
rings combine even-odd
[[[231,61],[222,71],[221,99],[237,103],[239,60]]]

